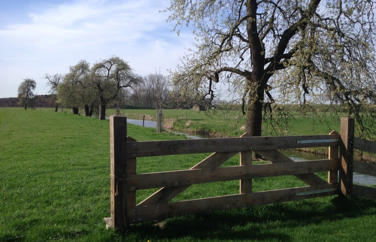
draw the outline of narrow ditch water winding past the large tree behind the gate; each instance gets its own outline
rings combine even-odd
[[[127,123],[143,126],[143,120],[138,119],[128,119]],[[155,121],[149,121],[145,120],[144,127],[149,128],[156,128],[156,122]],[[182,133],[182,132],[176,132],[174,130],[168,130],[168,132],[178,134],[178,135],[185,135],[188,139],[205,139],[205,138],[213,138],[206,135],[200,135],[200,134],[189,134],[189,133]],[[285,155],[290,157],[294,161],[306,161],[306,160],[319,160],[319,159],[326,159],[326,156],[320,155],[320,154],[312,154],[312,153],[302,153],[299,151],[294,150],[288,150],[283,152]],[[369,176],[364,174],[358,174],[354,173],[353,176],[354,183],[360,184],[360,185],[376,185],[376,177],[375,176]]]

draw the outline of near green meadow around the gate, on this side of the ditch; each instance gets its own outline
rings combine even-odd
[[[128,135],[138,141],[183,138],[133,125]],[[178,216],[134,224],[120,234],[106,230],[103,221],[110,215],[107,120],[1,108],[0,137],[1,242],[371,242],[376,237],[376,201],[338,196]],[[185,169],[205,155],[140,158],[137,169]],[[235,164],[238,157],[226,163]],[[254,180],[255,191],[296,186],[302,183],[291,176]],[[138,201],[152,192],[140,191]],[[175,200],[236,193],[238,181],[204,184]]]

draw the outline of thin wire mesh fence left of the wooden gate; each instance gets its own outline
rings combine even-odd
[[[0,175],[0,241],[53,231],[52,240],[103,229],[109,174],[110,165]]]

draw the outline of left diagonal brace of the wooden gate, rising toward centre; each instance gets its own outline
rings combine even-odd
[[[229,158],[237,154],[237,152],[216,152],[201,162],[193,166],[191,169],[200,169],[200,168],[216,168],[223,163],[225,163]],[[161,202],[168,202],[178,194],[182,193],[184,190],[189,188],[187,186],[176,186],[176,187],[165,187],[156,191],[154,194],[151,194],[148,198],[139,203],[139,205],[150,205]]]

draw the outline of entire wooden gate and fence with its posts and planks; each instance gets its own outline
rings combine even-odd
[[[127,138],[127,118],[110,117],[111,136],[111,217],[107,227],[124,230],[131,223],[153,221],[177,214],[212,209],[307,199],[333,194],[354,194],[376,198],[376,189],[353,185],[353,172],[376,176],[376,165],[354,162],[354,148],[376,152],[376,143],[354,138],[354,119],[341,119],[341,134],[245,137],[137,142]],[[329,147],[328,159],[294,162],[278,149]],[[137,157],[213,152],[189,170],[138,174]],[[239,166],[220,167],[240,152]],[[270,164],[252,164],[256,152]],[[324,181],[315,172],[328,171]],[[339,176],[338,176],[339,174]],[[294,175],[307,186],[253,192],[252,179]],[[338,180],[339,179],[339,180]],[[239,193],[171,202],[189,186],[240,180]],[[136,204],[136,191],[160,188]]]

